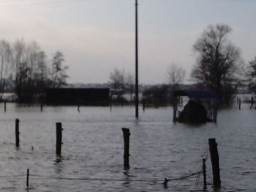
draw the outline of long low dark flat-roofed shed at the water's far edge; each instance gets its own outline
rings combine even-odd
[[[108,106],[109,88],[46,88],[44,102],[49,105]]]

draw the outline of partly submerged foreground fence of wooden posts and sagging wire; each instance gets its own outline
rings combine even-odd
[[[19,148],[19,122],[20,120],[16,119],[15,121],[15,130],[16,130],[16,147]],[[129,137],[130,137],[130,130],[128,128],[122,128],[123,131],[123,137],[124,137],[124,170],[128,170],[130,168],[129,164]],[[61,157],[61,145],[62,145],[62,124],[61,122],[56,123],[56,163],[59,163],[62,161]],[[220,175],[219,175],[219,166],[218,166],[218,150],[217,145],[215,142],[215,139],[209,139],[209,150],[211,155],[211,162],[212,162],[212,172],[213,172],[213,185],[217,188],[220,187]],[[196,178],[200,175],[203,175],[204,180],[204,186],[203,189],[207,188],[206,184],[206,162],[207,158],[203,158],[202,167],[197,172],[189,173],[185,176],[181,177],[170,177],[170,178],[159,178],[156,179],[130,179],[129,182],[161,182],[164,186],[164,188],[168,187],[168,182],[170,181],[183,181],[186,179]],[[14,175],[15,176],[24,176],[24,175]],[[0,176],[1,177],[1,176]],[[2,176],[4,177],[4,176]],[[39,175],[39,174],[30,174],[29,170],[27,170],[26,174],[26,186],[27,189],[29,189],[29,177],[36,177],[36,178],[55,178],[59,180],[88,180],[88,181],[126,181],[124,179],[118,179],[118,178],[72,178],[72,177],[52,177],[52,176],[46,176],[46,175]]]

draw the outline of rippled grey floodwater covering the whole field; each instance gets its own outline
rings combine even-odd
[[[172,122],[172,108],[51,107],[0,104],[0,192],[199,192],[206,158],[212,192],[208,138],[216,138],[220,192],[256,191],[256,110],[218,111],[217,123]],[[15,147],[15,119],[20,148]],[[62,162],[55,162],[56,122],[62,122]],[[124,170],[121,128],[130,129],[130,169]],[[33,146],[33,150],[32,150]],[[29,189],[26,171],[29,169]],[[164,188],[164,178],[168,187]]]

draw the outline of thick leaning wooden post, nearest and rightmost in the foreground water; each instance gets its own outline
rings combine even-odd
[[[212,180],[213,186],[220,188],[220,166],[219,166],[219,155],[217,149],[217,143],[215,138],[208,139],[210,157],[212,162]]]

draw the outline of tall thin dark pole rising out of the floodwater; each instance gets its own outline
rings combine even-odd
[[[139,88],[138,88],[138,3],[135,0],[135,108],[136,118],[139,117]]]

